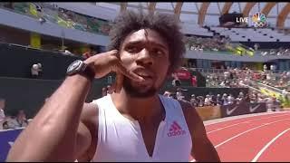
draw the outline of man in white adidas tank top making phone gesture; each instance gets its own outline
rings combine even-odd
[[[185,53],[179,29],[168,14],[122,13],[111,29],[118,51],[73,62],[7,161],[219,161],[197,111],[158,94]],[[115,92],[84,103],[93,78],[111,71]]]

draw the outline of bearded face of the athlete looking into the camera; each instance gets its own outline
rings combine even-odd
[[[121,44],[121,62],[130,71],[139,74],[144,82],[125,77],[124,90],[131,97],[150,97],[156,94],[169,70],[169,46],[159,33],[141,29],[129,34]]]

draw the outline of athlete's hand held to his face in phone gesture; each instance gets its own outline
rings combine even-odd
[[[116,72],[116,82],[112,85],[117,92],[121,91],[124,75],[138,82],[144,81],[142,77],[134,72],[127,70],[121,63],[121,59],[117,56],[118,51],[112,50],[106,53],[96,54],[84,63],[88,64],[95,71],[95,78],[102,78],[110,72]]]

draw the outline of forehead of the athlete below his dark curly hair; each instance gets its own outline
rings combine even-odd
[[[166,40],[158,32],[150,29],[140,29],[139,31],[129,34],[125,38],[123,44],[128,43],[153,43],[169,49]]]

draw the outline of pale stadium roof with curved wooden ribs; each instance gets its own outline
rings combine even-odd
[[[177,14],[181,22],[188,24],[218,25],[219,16],[227,13],[243,13],[251,16],[256,12],[266,14],[267,23],[272,27],[290,27],[290,3],[275,2],[205,2],[205,3],[95,3],[95,5],[110,8],[119,13],[122,10],[158,11]]]

